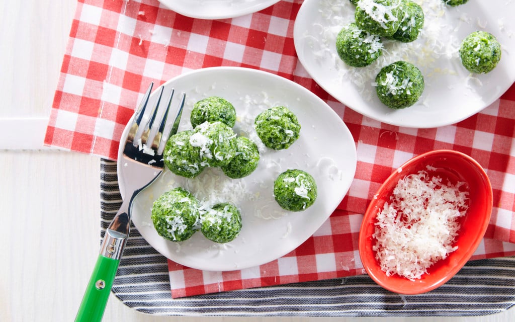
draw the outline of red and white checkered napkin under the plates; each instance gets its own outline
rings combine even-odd
[[[245,66],[294,80],[343,118],[357,147],[348,195],[305,243],[273,262],[202,272],[169,262],[173,297],[363,274],[357,251],[368,201],[398,166],[432,149],[475,158],[493,185],[494,209],[474,259],[515,255],[515,87],[482,112],[434,129],[382,124],[336,102],[298,62],[293,26],[302,1],[280,1],[228,20],[176,14],[157,0],[79,0],[45,143],[116,159],[119,138],[150,81],[188,70]]]

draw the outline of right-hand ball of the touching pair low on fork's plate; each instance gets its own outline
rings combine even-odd
[[[202,234],[215,243],[231,242],[242,230],[242,215],[229,202],[213,206],[202,215],[201,222]]]

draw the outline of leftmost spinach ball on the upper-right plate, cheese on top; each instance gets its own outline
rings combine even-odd
[[[358,28],[350,23],[336,36],[336,52],[341,60],[354,67],[364,67],[381,56],[383,43],[377,35]]]

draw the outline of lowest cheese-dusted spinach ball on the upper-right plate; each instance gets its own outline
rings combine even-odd
[[[402,60],[383,67],[375,82],[377,97],[391,109],[414,105],[424,91],[424,76],[420,70]]]

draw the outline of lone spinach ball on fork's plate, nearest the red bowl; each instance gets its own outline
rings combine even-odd
[[[317,184],[307,172],[290,169],[281,173],[274,181],[273,195],[281,208],[303,211],[314,204]]]

